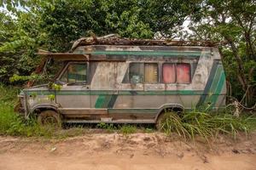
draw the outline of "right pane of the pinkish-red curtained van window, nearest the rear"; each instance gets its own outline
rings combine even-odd
[[[190,65],[189,64],[177,64],[177,83],[189,83],[190,82]]]

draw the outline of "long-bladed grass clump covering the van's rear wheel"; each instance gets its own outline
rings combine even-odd
[[[239,132],[248,133],[252,117],[236,117],[230,113],[209,113],[204,111],[187,111],[177,116],[174,112],[166,112],[160,129],[167,134],[177,133],[184,139],[195,139],[199,135],[209,141],[218,133],[230,134],[236,139]]]

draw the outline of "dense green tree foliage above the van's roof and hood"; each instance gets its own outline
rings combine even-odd
[[[72,41],[92,34],[122,37],[172,37],[198,3],[174,0],[38,0],[2,1],[11,16],[0,12],[0,82],[31,80],[40,57],[38,48],[63,52]],[[20,9],[17,8],[21,6]],[[38,77],[44,78],[44,77]],[[18,80],[18,81],[16,81]]]

